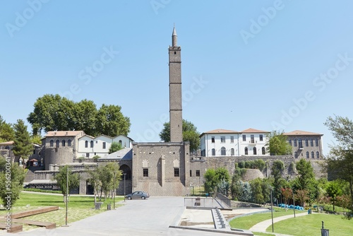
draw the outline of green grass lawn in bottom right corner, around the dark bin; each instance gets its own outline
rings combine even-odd
[[[286,235],[321,235],[321,221],[324,228],[330,230],[330,236],[353,235],[353,221],[345,220],[341,215],[326,213],[313,213],[282,220],[273,225],[274,231]],[[267,228],[267,232],[272,232],[272,226]]]

